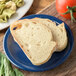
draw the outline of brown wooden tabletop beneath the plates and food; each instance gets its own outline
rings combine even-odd
[[[51,2],[53,1],[54,0],[35,0],[34,4],[32,5],[31,9],[26,15],[37,13],[38,11],[40,11],[47,5],[51,4]],[[52,11],[49,11],[51,9]],[[74,35],[74,39],[76,39],[76,23],[73,24],[70,22],[70,20],[64,19],[61,16],[59,16],[55,9],[55,2],[54,4],[49,5],[47,9],[44,9],[43,11],[39,13],[52,15],[65,21],[71,28],[73,35]],[[5,31],[6,30],[0,31],[0,51],[3,51],[2,40],[5,34]],[[76,76],[76,41],[74,41],[74,48],[73,48],[71,55],[60,66],[52,70],[45,71],[45,72],[28,72],[28,71],[23,71],[23,70],[21,71],[24,73],[24,76]]]

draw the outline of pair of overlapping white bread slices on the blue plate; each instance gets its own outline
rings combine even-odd
[[[56,26],[49,19],[33,18],[18,20],[10,25],[14,40],[34,65],[47,62],[52,54],[67,46],[64,23]]]

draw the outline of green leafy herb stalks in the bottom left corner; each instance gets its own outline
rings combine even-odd
[[[24,76],[18,69],[13,69],[10,61],[0,52],[0,76]]]

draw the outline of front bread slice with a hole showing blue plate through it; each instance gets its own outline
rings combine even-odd
[[[56,49],[51,30],[31,20],[19,20],[11,24],[11,34],[34,65],[47,62]]]

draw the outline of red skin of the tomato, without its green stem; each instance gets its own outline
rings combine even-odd
[[[58,13],[67,19],[71,19],[70,13],[63,15],[63,13],[68,11],[67,6],[76,6],[76,0],[56,0],[56,9]],[[73,16],[76,18],[76,12],[73,12]]]

